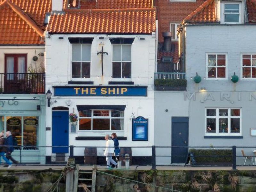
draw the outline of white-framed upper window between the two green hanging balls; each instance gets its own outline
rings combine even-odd
[[[226,54],[206,54],[206,65],[206,74],[208,79],[227,78]]]

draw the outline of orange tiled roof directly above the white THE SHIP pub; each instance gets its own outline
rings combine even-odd
[[[150,34],[156,31],[155,8],[65,10],[51,16],[49,33]]]

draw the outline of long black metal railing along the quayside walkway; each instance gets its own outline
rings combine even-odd
[[[14,146],[14,147],[18,147],[18,148],[27,148],[27,147],[31,147],[31,146]],[[74,154],[74,149],[75,148],[106,148],[105,146],[35,146],[36,149],[40,149],[40,148],[69,148],[69,154],[68,155],[64,155],[62,157],[70,157],[70,158],[76,158],[76,157],[80,157],[81,155],[75,155]],[[111,147],[112,148],[112,147]],[[256,146],[218,146],[218,147],[209,147],[209,146],[184,146],[184,147],[181,147],[181,146],[132,146],[132,147],[120,147],[120,148],[143,148],[143,151],[147,150],[147,148],[151,148],[151,150],[148,150],[151,151],[151,155],[150,156],[150,161],[148,163],[148,165],[146,164],[133,164],[135,166],[151,166],[151,169],[156,169],[157,166],[184,166],[184,165],[187,165],[187,166],[198,166],[198,167],[202,167],[202,166],[209,166],[209,167],[212,167],[212,166],[230,166],[232,167],[232,170],[236,170],[237,169],[237,166],[247,166],[247,165],[251,165],[251,166],[256,166],[256,150],[253,150],[250,149],[250,148],[253,148],[255,149]],[[145,150],[144,150],[145,148]],[[156,155],[157,152],[159,153],[159,151],[157,151],[157,149],[160,149],[160,148],[169,148],[171,150],[175,149],[175,148],[187,148],[189,149],[189,153],[188,154],[182,154],[182,155],[175,155],[175,154],[169,154],[167,153],[167,155]],[[192,154],[191,152],[191,149],[197,149],[197,150],[207,150],[208,151],[208,154]],[[222,154],[222,155],[218,155],[218,154],[211,154],[209,153],[209,151],[212,151],[212,152],[218,152],[220,151],[220,149],[222,150],[226,150],[226,151],[229,151],[230,153],[225,153],[225,154]],[[245,156],[241,150],[245,150],[246,153],[247,153],[247,156]],[[16,156],[18,157],[17,160],[19,161],[20,160],[20,163],[23,163],[24,162],[22,161],[22,157],[46,157],[46,155],[29,155],[29,154],[26,154],[26,155],[23,155],[25,151],[23,150],[16,150],[19,155],[14,155],[12,154],[12,156]],[[238,151],[241,151],[239,152],[240,155],[237,155],[237,152]],[[26,151],[28,152],[28,151]],[[23,153],[23,154],[22,154]],[[254,153],[254,154],[252,154]],[[49,156],[56,156],[56,155],[48,155]],[[82,157],[97,157],[97,153],[96,154],[87,154],[87,155],[83,155]],[[103,154],[101,156],[104,156]],[[120,154],[119,157],[124,157],[124,158],[127,158],[127,156],[125,154]],[[131,155],[129,156],[130,158],[130,161],[133,157],[145,157],[145,156],[134,156],[134,155]],[[163,165],[163,164],[157,164],[156,163],[156,157],[170,157],[170,161],[171,161],[171,158],[174,158],[174,157],[182,157],[186,160],[184,160],[184,162],[181,162],[180,164],[175,164],[175,162],[173,164],[168,164],[168,165]],[[212,164],[212,163],[209,163],[209,164],[196,164],[196,161],[199,160],[200,158],[204,158],[207,160],[211,160],[211,161],[214,161],[214,158],[218,158],[218,159],[221,159],[221,158],[225,158],[227,159],[228,158],[228,164],[226,164],[227,162],[221,162],[220,161],[220,164]],[[237,158],[240,158],[240,164],[237,164]],[[244,161],[242,161],[242,159]],[[249,162],[246,162],[246,158],[248,160],[251,160]],[[243,163],[242,163],[243,162]],[[202,162],[201,162],[202,163]],[[241,164],[242,163],[242,164]],[[246,165],[247,163],[247,165]],[[249,164],[248,164],[249,163]],[[29,164],[31,165],[31,164]],[[36,164],[38,165],[38,164]],[[87,165],[93,165],[93,164],[87,164]],[[105,166],[106,164],[98,164],[98,166]]]

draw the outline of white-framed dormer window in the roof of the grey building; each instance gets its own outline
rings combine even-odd
[[[222,8],[223,23],[241,23],[241,4],[239,3],[223,3]]]

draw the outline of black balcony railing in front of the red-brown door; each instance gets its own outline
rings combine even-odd
[[[45,73],[0,73],[0,93],[45,94]]]

